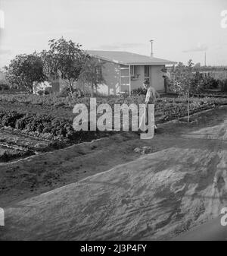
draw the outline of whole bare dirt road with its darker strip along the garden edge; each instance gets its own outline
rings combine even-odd
[[[54,180],[51,174],[60,173],[63,185],[85,177],[81,167],[89,175],[101,173],[6,207],[0,239],[170,239],[204,223],[227,207],[226,127],[226,108],[216,109],[198,115],[194,125],[163,125],[151,141],[119,135],[1,166],[6,181],[15,164],[23,172],[15,169],[17,179],[1,193],[5,205],[48,191],[44,184]],[[133,151],[148,145],[156,152],[140,156]],[[42,161],[51,168],[41,169]],[[102,172],[109,166],[116,167]],[[31,173],[36,191],[20,181],[26,184]]]

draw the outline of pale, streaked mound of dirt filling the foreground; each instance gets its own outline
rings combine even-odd
[[[6,209],[0,239],[169,239],[227,205],[225,163],[226,150],[146,155]]]

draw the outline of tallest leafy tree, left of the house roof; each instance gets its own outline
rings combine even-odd
[[[70,93],[73,93],[73,84],[82,72],[84,62],[89,55],[80,49],[82,45],[67,41],[61,37],[60,40],[49,40],[49,50],[42,51],[44,71],[48,77],[61,78]]]

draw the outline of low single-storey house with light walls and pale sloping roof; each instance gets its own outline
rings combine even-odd
[[[87,51],[89,55],[104,61],[101,67],[104,83],[98,85],[98,93],[116,95],[142,86],[148,80],[158,91],[164,90],[163,72],[166,65],[176,62],[149,57],[132,52]]]

